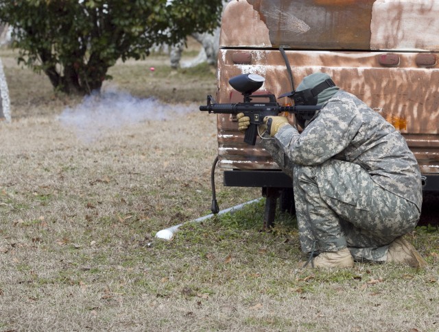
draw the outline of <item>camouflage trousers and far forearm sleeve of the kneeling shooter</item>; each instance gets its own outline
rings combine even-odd
[[[390,242],[416,226],[416,205],[378,186],[361,166],[336,159],[300,166],[274,142],[263,145],[293,179],[303,252],[347,246],[357,261],[385,261]]]

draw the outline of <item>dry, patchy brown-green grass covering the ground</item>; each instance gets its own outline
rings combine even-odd
[[[259,232],[263,203],[154,238],[209,213],[215,117],[198,112],[215,92],[209,68],[171,71],[159,56],[117,64],[111,84],[171,101],[167,118],[83,140],[99,118],[82,131],[62,123],[80,99],[54,94],[12,55],[0,53],[13,107],[0,124],[0,331],[438,330],[437,232],[410,238],[429,261],[421,271],[300,270],[294,219]],[[217,176],[222,208],[259,196]]]

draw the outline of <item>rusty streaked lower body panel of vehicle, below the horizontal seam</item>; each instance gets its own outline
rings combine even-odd
[[[228,79],[241,73],[265,77],[263,90],[276,96],[292,90],[278,50],[248,50],[252,64],[235,64],[234,49],[222,49],[218,62],[218,101],[237,102]],[[328,73],[340,88],[379,112],[407,138],[424,172],[439,173],[439,65],[416,64],[418,53],[394,53],[397,66],[384,66],[377,52],[287,51],[294,82],[316,71]],[[386,54],[386,53],[382,53]],[[278,99],[281,104],[287,98]],[[292,116],[289,117],[294,120]],[[219,166],[239,169],[277,169],[261,146],[248,146],[230,115],[218,115]],[[428,149],[425,149],[427,148]]]

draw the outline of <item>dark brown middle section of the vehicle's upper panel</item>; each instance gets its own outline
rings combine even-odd
[[[368,49],[372,0],[248,0],[268,27],[273,47]]]

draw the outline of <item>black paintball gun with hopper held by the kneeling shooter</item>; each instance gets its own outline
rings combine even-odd
[[[244,135],[244,142],[254,145],[258,135],[258,126],[263,124],[265,116],[277,116],[281,112],[295,114],[300,120],[311,120],[317,110],[322,108],[317,105],[294,105],[281,106],[276,102],[274,94],[252,93],[261,88],[265,78],[256,74],[242,74],[229,79],[228,83],[232,88],[241,92],[244,96],[244,103],[215,103],[211,95],[207,96],[207,105],[200,106],[200,111],[207,111],[214,114],[238,114],[244,113],[250,118],[250,126]],[[294,92],[282,94],[281,97],[291,97]],[[268,103],[254,103],[252,99],[268,98]]]

